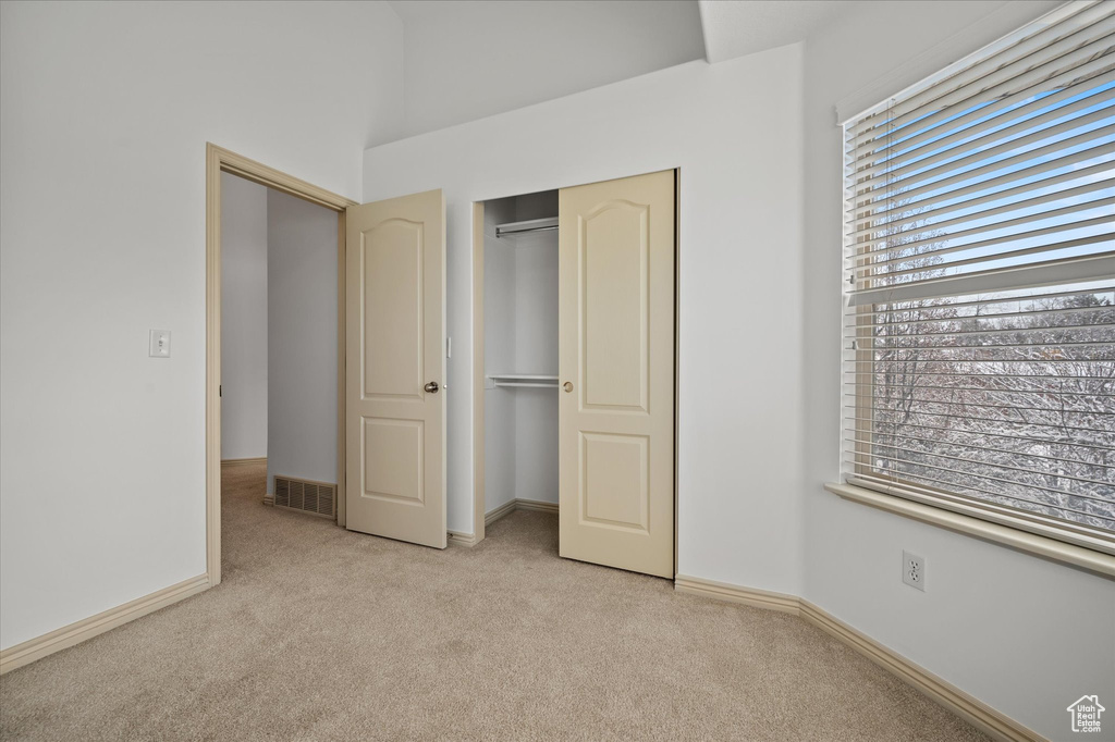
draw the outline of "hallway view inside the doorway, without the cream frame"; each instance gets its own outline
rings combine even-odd
[[[337,517],[337,214],[221,174],[221,477]]]

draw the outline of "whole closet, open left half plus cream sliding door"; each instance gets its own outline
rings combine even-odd
[[[558,510],[561,556],[661,577],[675,572],[676,177],[487,201],[475,212],[476,517]]]

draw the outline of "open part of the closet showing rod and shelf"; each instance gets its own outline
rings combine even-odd
[[[476,403],[483,411],[476,440],[484,450],[475,490],[477,537],[541,529],[552,533],[556,556],[558,191],[475,208],[475,230],[483,230],[474,241],[483,307],[477,312]]]

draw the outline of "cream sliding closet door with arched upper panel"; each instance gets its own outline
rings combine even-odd
[[[673,577],[673,170],[559,199],[560,553]]]

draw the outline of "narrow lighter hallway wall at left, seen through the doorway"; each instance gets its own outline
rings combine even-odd
[[[221,458],[266,455],[268,189],[222,173]]]

